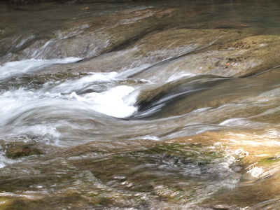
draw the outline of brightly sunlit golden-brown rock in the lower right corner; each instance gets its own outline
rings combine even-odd
[[[242,176],[237,188],[216,193],[202,203],[233,209],[279,207],[279,200],[275,200],[279,198],[279,142],[269,132],[264,133],[263,130],[206,132],[188,139],[172,140],[202,144],[216,142],[225,145],[238,158],[234,168]]]

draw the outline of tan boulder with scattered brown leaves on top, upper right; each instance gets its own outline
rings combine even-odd
[[[279,66],[279,36],[249,36],[225,42],[204,51],[193,52],[171,62],[139,73],[135,78],[162,83],[182,73],[211,74],[223,77],[246,77]]]

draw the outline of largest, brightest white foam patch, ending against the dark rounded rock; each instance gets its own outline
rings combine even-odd
[[[112,73],[111,76],[113,77],[113,75],[115,73]],[[94,77],[94,75],[92,76]],[[85,80],[88,79],[85,78]],[[68,87],[66,85],[66,88]],[[92,110],[108,116],[125,118],[137,111],[137,108],[133,105],[138,92],[133,91],[134,87],[126,85],[108,88],[104,92],[90,92],[80,95],[76,92],[71,94],[43,92],[42,90],[34,92],[23,88],[8,90],[0,94],[0,125],[8,125],[15,119],[25,121],[32,118],[29,115],[40,115],[36,109],[44,109],[47,112],[45,114],[48,115],[55,112],[55,107],[57,107],[56,111],[62,115],[67,112],[62,109],[64,107],[65,109],[81,111]]]

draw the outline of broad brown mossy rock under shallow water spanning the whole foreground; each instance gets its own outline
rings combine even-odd
[[[7,208],[21,204],[34,209],[258,209],[279,196],[279,145],[267,137],[263,146],[262,134],[205,132],[168,141],[112,141],[109,146],[97,141],[56,150],[37,162],[34,157],[3,168],[1,188],[18,197],[1,193],[1,200]],[[26,173],[20,170],[24,166],[29,176],[18,178]],[[4,181],[6,172],[14,172],[9,182]]]

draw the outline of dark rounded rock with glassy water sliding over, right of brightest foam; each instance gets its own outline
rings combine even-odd
[[[267,80],[269,75],[275,79]],[[249,118],[254,122],[278,123],[277,116],[273,114],[279,103],[275,97],[279,91],[273,87],[278,84],[278,76],[276,69],[253,78],[188,75],[165,85],[149,85],[141,88],[135,104],[139,113],[132,118],[153,119],[188,114],[188,119],[193,120],[190,122],[199,122],[197,120],[200,119],[204,123],[205,120],[208,120],[207,123],[221,123],[230,118]],[[221,112],[223,106],[225,109]],[[201,118],[198,114],[192,117],[192,112],[200,109],[208,111],[204,111]],[[150,110],[153,112],[145,116],[144,113]]]

